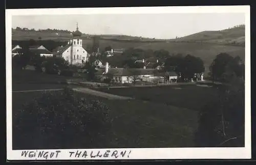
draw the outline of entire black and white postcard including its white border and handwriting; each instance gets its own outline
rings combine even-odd
[[[250,7],[6,11],[7,157],[250,158]]]

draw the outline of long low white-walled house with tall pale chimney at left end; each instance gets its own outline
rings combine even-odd
[[[134,78],[136,81],[149,81],[152,82],[158,78],[165,78],[166,82],[177,82],[177,74],[175,72],[160,73],[157,69],[145,68],[111,68],[107,62],[105,70],[100,69],[96,72],[96,76],[104,80],[108,75],[112,75],[113,81],[117,83],[132,83]]]

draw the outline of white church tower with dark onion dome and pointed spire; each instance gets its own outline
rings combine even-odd
[[[79,52],[79,50],[82,50],[82,39],[81,35],[82,33],[78,29],[78,23],[76,23],[76,31],[72,34],[73,38],[70,40],[70,61],[71,64],[79,63],[82,60],[82,53]]]

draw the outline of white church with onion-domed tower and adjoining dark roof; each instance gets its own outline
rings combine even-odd
[[[72,39],[66,46],[58,46],[53,50],[53,56],[61,57],[72,65],[81,65],[89,60],[89,54],[82,47],[82,33],[78,30],[78,24],[72,35]]]

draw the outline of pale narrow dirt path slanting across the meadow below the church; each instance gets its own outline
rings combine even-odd
[[[119,100],[133,99],[131,97],[112,95],[112,94],[109,94],[109,93],[99,92],[99,91],[91,90],[91,89],[88,89],[88,88],[73,88],[73,90],[76,91],[76,92],[91,94],[91,95],[95,95],[95,96],[98,96],[98,97],[104,97],[104,98],[108,98],[108,99],[119,99]]]

